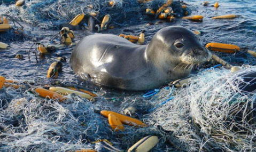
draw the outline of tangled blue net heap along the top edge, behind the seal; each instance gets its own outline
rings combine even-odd
[[[138,3],[137,0],[121,1],[113,0],[114,5],[110,5],[108,0],[32,0],[26,1],[25,5],[17,7],[3,3],[0,5],[1,14],[9,14],[13,18],[35,25],[40,28],[58,28],[61,23],[71,21],[77,14],[95,12],[101,20],[104,15],[110,14],[113,22],[125,26],[140,23],[144,19],[149,19],[145,14],[147,8],[157,10],[163,5],[165,0],[146,1]],[[182,17],[184,9],[180,6],[180,1],[175,1],[171,6],[178,17]],[[188,9],[185,9],[188,10]]]

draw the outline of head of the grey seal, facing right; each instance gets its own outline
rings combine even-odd
[[[151,42],[148,47],[154,51],[149,54],[154,54],[158,60],[165,61],[165,64],[170,62],[172,65],[196,65],[209,60],[212,56],[211,52],[200,43],[196,34],[180,26],[159,30]],[[162,49],[156,50],[152,47]]]

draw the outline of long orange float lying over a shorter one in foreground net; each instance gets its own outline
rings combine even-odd
[[[114,111],[100,111],[100,114],[102,114],[104,117],[108,118],[109,114],[113,114],[115,116],[117,116],[120,121],[122,122],[122,124],[126,124],[126,125],[130,125],[130,126],[139,126],[139,127],[146,127],[148,125],[146,125],[145,123],[139,121],[138,119],[132,118],[132,117],[128,117],[119,113],[115,113]]]

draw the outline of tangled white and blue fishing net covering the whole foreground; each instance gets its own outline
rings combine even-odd
[[[256,71],[249,66],[243,69]],[[144,95],[119,92],[117,97],[114,91],[98,90],[96,101],[69,94],[68,100],[59,102],[38,97],[31,89],[3,87],[0,150],[109,151],[94,142],[100,139],[127,150],[139,139],[157,135],[159,143],[153,151],[254,151],[256,97],[239,90],[243,79],[224,68],[195,76],[188,87],[163,87]],[[123,113],[128,106],[135,107],[134,117],[149,126],[125,125],[124,131],[113,132],[99,114],[100,110]]]

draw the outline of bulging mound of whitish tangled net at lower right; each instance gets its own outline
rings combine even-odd
[[[244,72],[255,72],[255,67]],[[255,94],[239,89],[243,79],[219,69],[203,71],[187,88],[169,89],[151,99],[151,125],[172,132],[169,140],[182,151],[255,151]],[[236,81],[234,81],[236,79]]]

